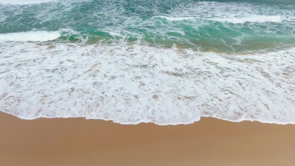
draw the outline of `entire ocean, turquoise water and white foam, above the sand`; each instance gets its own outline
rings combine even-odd
[[[294,0],[0,0],[0,110],[295,123]]]

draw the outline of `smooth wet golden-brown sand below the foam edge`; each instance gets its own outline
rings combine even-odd
[[[295,125],[214,118],[121,125],[0,112],[0,165],[295,165]]]

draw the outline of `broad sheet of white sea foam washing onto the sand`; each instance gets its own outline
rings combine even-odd
[[[142,44],[0,43],[0,110],[119,123],[295,123],[295,48],[222,54]]]

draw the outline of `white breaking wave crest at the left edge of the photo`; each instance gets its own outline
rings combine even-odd
[[[49,41],[60,36],[59,31],[26,31],[0,33],[0,41]]]

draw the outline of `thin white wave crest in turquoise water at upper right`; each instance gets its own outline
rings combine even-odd
[[[250,15],[244,17],[215,17],[209,18],[210,20],[220,22],[231,22],[231,23],[244,23],[244,22],[281,22],[282,18],[280,15]]]

